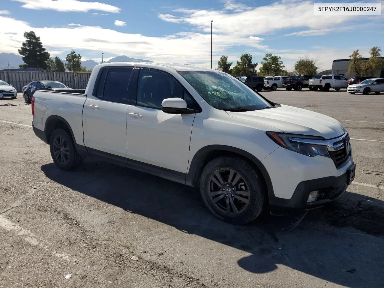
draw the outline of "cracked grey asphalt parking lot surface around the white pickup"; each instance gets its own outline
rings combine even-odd
[[[0,287],[383,287],[384,175],[363,170],[384,172],[384,94],[262,94],[351,136],[353,184],[290,231],[295,216],[223,223],[196,189],[124,167],[62,172],[30,104],[0,99]]]

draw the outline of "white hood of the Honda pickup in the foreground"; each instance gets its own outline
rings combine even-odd
[[[331,139],[343,135],[345,130],[339,121],[320,113],[292,106],[230,112],[230,116],[274,127],[285,133],[320,136]]]

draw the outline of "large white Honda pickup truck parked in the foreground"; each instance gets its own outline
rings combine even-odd
[[[230,223],[264,207],[283,215],[324,205],[354,179],[338,121],[273,103],[217,70],[104,63],[85,91],[39,90],[31,106],[33,131],[61,170],[95,157],[199,187]]]

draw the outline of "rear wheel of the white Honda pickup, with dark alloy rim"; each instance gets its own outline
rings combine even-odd
[[[53,162],[64,171],[76,169],[83,161],[76,151],[72,137],[63,129],[53,131],[50,138],[50,151]]]

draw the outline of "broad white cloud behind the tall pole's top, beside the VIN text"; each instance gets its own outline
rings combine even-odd
[[[240,8],[236,11],[236,7]],[[235,13],[229,13],[228,10],[233,10]],[[223,10],[178,8],[174,12],[182,15],[162,14],[163,16],[159,18],[168,22],[187,23],[204,32],[210,32],[210,22],[213,20],[213,29],[216,33],[243,36],[261,35],[286,28],[308,27],[311,30],[332,28],[353,18],[356,19],[353,16],[313,16],[312,1],[282,0],[265,6],[247,7],[233,0],[227,0]]]

